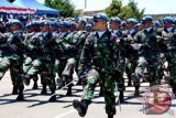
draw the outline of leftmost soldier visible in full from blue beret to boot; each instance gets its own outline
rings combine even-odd
[[[21,23],[19,20],[11,21],[12,33],[8,39],[8,44],[12,49],[12,55],[10,57],[11,65],[10,65],[10,75],[13,82],[13,85],[16,86],[19,96],[16,100],[23,100],[23,79],[22,79],[22,64],[23,64],[23,32],[21,29]]]

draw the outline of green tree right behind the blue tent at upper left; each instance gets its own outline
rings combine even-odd
[[[45,6],[59,10],[62,17],[75,17],[75,6],[70,0],[45,0]]]

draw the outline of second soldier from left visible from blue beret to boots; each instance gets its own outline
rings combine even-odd
[[[54,53],[53,50],[50,46],[50,42],[53,40],[52,32],[50,31],[51,21],[44,20],[41,24],[41,31],[42,31],[42,51],[43,51],[43,57],[42,57],[42,71],[41,71],[41,82],[43,85],[43,89],[41,94],[46,94],[46,86],[48,85],[52,94],[56,90],[55,85],[55,72],[54,72]]]

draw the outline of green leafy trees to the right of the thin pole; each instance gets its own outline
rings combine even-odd
[[[135,2],[129,2],[123,7],[122,0],[112,0],[111,4],[106,9],[106,13],[109,17],[120,17],[121,19],[135,18],[141,20],[144,15],[144,9],[140,10]]]

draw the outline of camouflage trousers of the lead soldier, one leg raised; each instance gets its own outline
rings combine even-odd
[[[116,96],[114,96],[114,79],[106,73],[98,73],[96,69],[90,69],[87,74],[87,84],[84,86],[82,99],[91,100],[96,85],[99,83],[103,90],[106,101],[106,112],[116,114]]]

